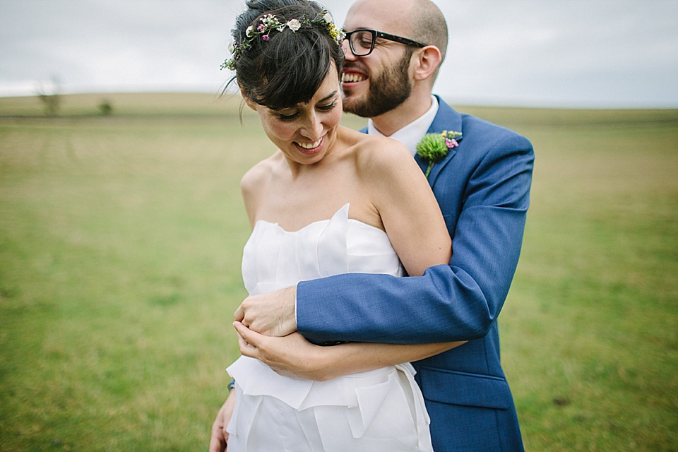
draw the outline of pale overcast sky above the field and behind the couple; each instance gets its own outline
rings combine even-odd
[[[343,23],[351,0],[325,0]],[[439,0],[458,105],[678,108],[678,0]],[[0,96],[215,93],[244,0],[0,0]]]

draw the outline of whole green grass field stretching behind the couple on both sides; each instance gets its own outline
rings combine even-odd
[[[0,451],[206,450],[238,355],[239,178],[273,150],[237,109],[0,98]],[[535,145],[499,320],[526,448],[678,450],[678,111],[459,109]]]

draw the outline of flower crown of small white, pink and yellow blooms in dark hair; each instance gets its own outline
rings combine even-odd
[[[263,41],[268,41],[270,39],[270,32],[273,30],[282,32],[285,28],[289,28],[292,32],[297,32],[299,28],[313,28],[313,25],[320,23],[326,25],[329,35],[339,45],[341,45],[345,36],[345,33],[334,25],[334,19],[328,11],[322,11],[320,16],[314,19],[309,19],[308,16],[302,16],[298,19],[288,20],[285,23],[280,22],[273,14],[266,14],[261,17],[260,22],[261,23],[256,28],[254,28],[254,25],[247,27],[247,30],[245,30],[245,39],[242,42],[234,40],[228,45],[228,50],[232,54],[232,57],[221,64],[221,69],[230,69],[231,71],[234,71],[235,61],[252,46],[252,42],[259,39],[259,37],[261,37],[261,40]]]

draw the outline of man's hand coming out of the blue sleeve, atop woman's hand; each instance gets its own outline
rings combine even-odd
[[[286,336],[297,331],[297,287],[247,297],[233,319],[252,331],[268,336]]]

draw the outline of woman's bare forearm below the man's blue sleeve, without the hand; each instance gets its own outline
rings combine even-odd
[[[356,374],[403,362],[417,361],[446,352],[465,342],[434,344],[381,344],[345,343],[322,347],[319,358],[323,365],[317,371],[316,380],[328,380],[338,376]]]

